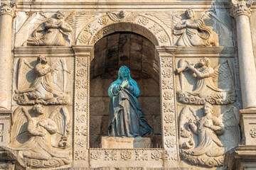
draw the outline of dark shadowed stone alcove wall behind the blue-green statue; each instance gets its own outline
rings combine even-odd
[[[100,147],[100,138],[107,135],[110,106],[107,90],[117,80],[122,65],[129,67],[132,79],[137,81],[141,91],[139,105],[154,129],[144,137],[151,138],[151,147],[161,147],[159,63],[155,45],[130,32],[112,33],[95,43],[90,62],[90,147]]]

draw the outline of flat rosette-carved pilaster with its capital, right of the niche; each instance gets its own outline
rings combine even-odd
[[[178,167],[178,130],[174,93],[174,52],[176,47],[156,47],[159,54],[160,98],[164,166]]]

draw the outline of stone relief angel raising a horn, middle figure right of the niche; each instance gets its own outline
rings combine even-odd
[[[229,60],[218,64],[214,69],[210,66],[210,59],[204,57],[197,64],[191,64],[188,60],[179,61],[176,73],[179,74],[181,91],[178,91],[178,101],[185,104],[201,105],[206,102],[211,104],[229,104],[236,101],[233,83],[233,67]],[[197,77],[196,89],[183,91],[183,75],[186,69],[191,70]],[[214,82],[223,84],[225,89],[219,89]]]

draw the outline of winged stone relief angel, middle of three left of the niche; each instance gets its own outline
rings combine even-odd
[[[31,75],[28,76],[28,79],[35,77],[36,74],[36,78],[32,78],[33,82],[28,89],[15,91],[14,101],[21,105],[68,104],[70,96],[64,92],[67,72],[70,73],[66,68],[64,59],[55,60],[53,67],[50,67],[47,57],[40,55],[34,68],[26,59],[20,59],[18,63],[18,88],[27,84],[24,74]],[[55,90],[54,87],[58,87],[60,91]]]

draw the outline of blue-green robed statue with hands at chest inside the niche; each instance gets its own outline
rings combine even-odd
[[[146,123],[145,115],[139,106],[139,87],[130,76],[128,67],[122,66],[118,79],[108,89],[110,118],[107,135],[112,137],[142,137],[152,131]]]

